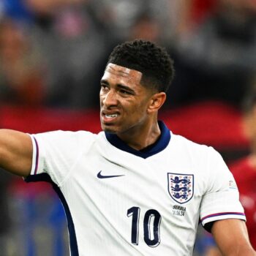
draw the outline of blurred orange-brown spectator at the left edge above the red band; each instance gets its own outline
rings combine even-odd
[[[1,103],[39,105],[44,97],[43,83],[40,58],[29,35],[14,21],[1,20]]]

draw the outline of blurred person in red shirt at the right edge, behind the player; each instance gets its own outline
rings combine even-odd
[[[256,249],[256,90],[245,97],[243,127],[250,143],[250,153],[246,157],[230,163],[230,171],[236,179],[240,200],[246,214],[249,239]],[[221,256],[211,236],[204,238],[206,256]]]

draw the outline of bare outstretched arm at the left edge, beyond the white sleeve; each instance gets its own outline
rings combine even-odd
[[[18,176],[29,176],[33,146],[29,135],[0,129],[0,167]]]

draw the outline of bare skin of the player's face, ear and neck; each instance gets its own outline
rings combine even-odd
[[[99,93],[102,129],[137,150],[159,138],[157,113],[166,99],[164,92],[142,86],[141,78],[141,72],[108,64]]]

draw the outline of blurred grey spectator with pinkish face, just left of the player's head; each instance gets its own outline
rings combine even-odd
[[[47,104],[65,108],[97,106],[108,42],[90,1],[26,0],[26,6],[34,13],[34,42],[45,56]]]

